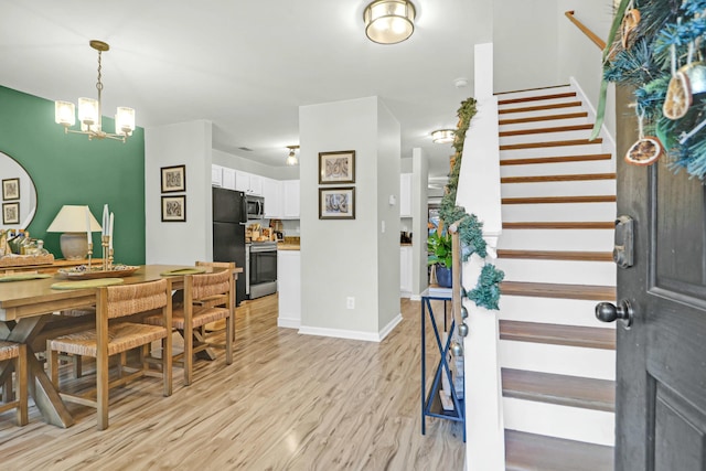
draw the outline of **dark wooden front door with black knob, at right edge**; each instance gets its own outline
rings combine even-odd
[[[634,220],[634,266],[617,268],[616,470],[706,470],[706,199],[659,161],[624,163],[637,140],[629,90],[618,96],[618,215]]]

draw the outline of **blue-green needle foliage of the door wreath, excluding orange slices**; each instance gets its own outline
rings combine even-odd
[[[623,0],[624,1],[624,0]],[[635,0],[641,21],[634,38],[623,47],[620,38],[612,43],[612,56],[603,67],[603,78],[637,87],[637,111],[644,116],[644,133],[656,136],[668,156],[668,167],[685,169],[693,176],[706,178],[706,127],[681,142],[706,119],[705,94],[698,94],[685,116],[668,119],[663,105],[672,78],[672,47],[676,68],[687,61],[689,44],[693,62],[706,57],[706,0]]]

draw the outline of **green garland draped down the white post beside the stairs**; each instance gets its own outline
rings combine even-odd
[[[468,214],[464,207],[456,205],[463,142],[466,141],[466,131],[468,131],[471,124],[471,118],[477,113],[475,104],[475,99],[468,98],[461,103],[461,107],[458,109],[459,122],[453,138],[453,149],[456,150],[453,167],[451,168],[449,183],[446,185],[439,208],[439,218],[443,222],[445,227],[451,227],[453,224],[458,227],[461,242],[461,259],[463,261],[467,261],[473,254],[478,254],[481,258],[488,256],[485,239],[483,239],[483,223],[478,220],[475,214]],[[481,269],[475,287],[470,291],[463,289],[463,296],[475,302],[478,307],[498,310],[501,295],[500,282],[504,276],[503,271],[486,263]]]

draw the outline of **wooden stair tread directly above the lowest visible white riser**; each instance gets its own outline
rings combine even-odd
[[[616,383],[526,370],[502,368],[503,397],[616,411]]]

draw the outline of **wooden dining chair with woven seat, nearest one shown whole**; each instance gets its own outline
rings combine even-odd
[[[98,409],[98,430],[108,427],[108,390],[141,376],[161,376],[163,395],[172,394],[172,336],[171,329],[171,281],[161,279],[133,285],[118,285],[97,288],[96,328],[62,335],[46,341],[49,374],[58,388],[58,352],[96,358],[96,389],[84,394],[62,392],[64,400],[88,405]],[[162,325],[126,322],[120,318],[160,310]],[[161,372],[149,368],[143,361],[152,342],[162,344]],[[124,353],[140,347],[140,365],[137,368],[124,366]],[[109,381],[108,358],[120,355],[118,377]]]

